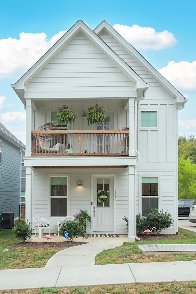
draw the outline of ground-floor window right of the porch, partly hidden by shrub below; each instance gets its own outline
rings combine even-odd
[[[159,177],[141,177],[141,214],[148,214],[150,209],[158,209]]]

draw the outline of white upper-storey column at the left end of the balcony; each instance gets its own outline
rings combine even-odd
[[[26,99],[26,150],[25,156],[31,156],[32,105],[31,99]]]

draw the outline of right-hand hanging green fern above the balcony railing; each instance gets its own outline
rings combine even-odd
[[[87,113],[87,123],[88,125],[94,125],[95,123],[102,124],[106,118],[106,113],[103,106],[90,107]]]

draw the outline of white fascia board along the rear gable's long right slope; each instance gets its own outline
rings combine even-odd
[[[171,83],[166,80],[129,42],[127,42],[114,28],[106,21],[102,21],[94,32],[99,35],[105,30],[138,64],[146,70],[173,98],[185,102],[185,97]]]

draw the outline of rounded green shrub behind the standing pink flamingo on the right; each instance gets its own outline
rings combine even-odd
[[[161,211],[158,211],[157,208],[153,208],[150,209],[149,214],[145,215],[145,230],[156,227],[156,233],[157,235],[160,235],[161,230],[169,228],[172,222],[173,219],[171,217],[171,214],[168,213],[168,210],[166,212],[163,212],[163,209]]]

